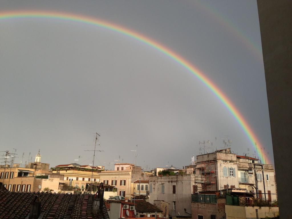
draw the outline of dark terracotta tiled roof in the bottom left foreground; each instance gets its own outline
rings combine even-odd
[[[41,201],[39,219],[98,218],[109,219],[105,204],[102,211],[92,213],[92,194],[56,194],[44,192],[0,191],[0,218],[28,218],[30,206],[38,195]]]

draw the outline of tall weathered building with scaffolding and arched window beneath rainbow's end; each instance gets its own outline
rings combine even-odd
[[[202,191],[243,188],[257,198],[277,200],[273,166],[231,153],[230,148],[198,155],[195,169],[204,179]]]

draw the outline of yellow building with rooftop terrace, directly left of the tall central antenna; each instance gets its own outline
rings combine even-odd
[[[89,165],[79,165],[76,163],[72,164],[61,164],[52,168],[53,173],[58,173],[64,175],[64,180],[62,183],[69,186],[86,189],[86,183],[100,182],[99,172],[102,171],[101,167],[89,166]]]

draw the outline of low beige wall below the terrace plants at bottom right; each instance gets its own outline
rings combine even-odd
[[[246,219],[256,218],[256,209],[258,209],[258,217],[276,217],[279,214],[279,207],[246,207],[225,205],[226,219]]]

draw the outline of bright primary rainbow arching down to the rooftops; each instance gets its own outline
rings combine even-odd
[[[210,80],[208,79],[202,72],[199,71],[196,67],[194,67],[190,62],[188,62],[186,59],[184,59],[182,56],[178,55],[174,51],[171,51],[171,49],[167,48],[166,46],[148,38],[147,36],[144,36],[142,34],[139,34],[131,29],[127,29],[125,27],[109,23],[105,20],[99,20],[92,17],[86,17],[83,15],[76,15],[76,14],[69,14],[65,12],[53,12],[53,11],[6,11],[6,12],[0,12],[0,21],[1,20],[7,20],[7,19],[24,19],[24,18],[51,18],[51,19],[60,19],[60,20],[68,20],[68,21],[74,21],[79,22],[83,24],[89,24],[96,27],[102,27],[114,32],[117,32],[119,34],[123,34],[126,36],[129,36],[132,39],[135,39],[137,41],[140,41],[157,51],[164,53],[166,56],[174,60],[175,62],[179,63],[181,66],[183,66],[185,69],[187,69],[189,72],[194,74],[201,82],[203,82],[219,99],[220,101],[227,107],[227,109],[230,111],[230,113],[234,116],[234,118],[237,120],[241,128],[246,133],[249,141],[251,142],[251,145],[254,145],[255,142],[257,142],[258,147],[255,147],[260,159],[262,162],[267,162],[268,158],[265,157],[260,145],[259,141],[256,138],[256,134],[251,129],[251,127],[247,124],[246,120],[243,118],[243,116],[240,114],[239,110],[236,109],[236,107],[232,104],[232,102],[227,98],[227,96],[220,91],[220,89]],[[270,161],[269,161],[270,162]]]

